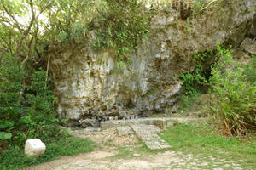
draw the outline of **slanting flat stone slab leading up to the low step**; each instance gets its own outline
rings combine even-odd
[[[161,129],[154,125],[131,125],[131,129],[137,134],[137,137],[143,141],[150,150],[160,150],[171,148],[165,140],[161,139],[157,133]]]

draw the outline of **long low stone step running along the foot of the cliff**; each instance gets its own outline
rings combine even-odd
[[[174,122],[193,122],[196,120],[201,120],[198,118],[183,118],[183,117],[157,117],[157,118],[139,118],[130,120],[117,120],[117,121],[105,121],[100,122],[100,127],[102,129],[113,128],[113,127],[125,127],[131,125],[155,125],[161,129],[172,126]]]

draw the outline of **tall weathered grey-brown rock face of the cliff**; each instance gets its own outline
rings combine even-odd
[[[61,118],[79,120],[108,116],[123,118],[172,108],[182,88],[178,74],[193,71],[194,54],[216,48],[218,43],[240,43],[253,32],[255,0],[224,0],[218,8],[190,20],[177,11],[160,12],[151,20],[147,42],[139,42],[131,64],[114,71],[111,49],[97,52],[90,46],[71,50],[49,48],[50,72],[59,97]],[[236,40],[236,41],[235,41]],[[233,42],[233,41],[232,41]]]

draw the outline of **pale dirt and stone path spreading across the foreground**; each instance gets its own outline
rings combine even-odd
[[[140,151],[143,144],[134,135],[119,137],[115,129],[89,135],[85,135],[84,130],[78,130],[74,135],[92,139],[97,149],[79,156],[63,156],[26,170],[242,169],[213,156],[201,160],[192,154],[184,155],[172,150],[143,152]]]

